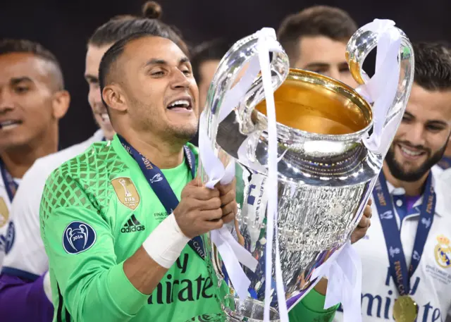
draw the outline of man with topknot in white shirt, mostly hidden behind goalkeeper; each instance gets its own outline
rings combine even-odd
[[[101,57],[119,39],[156,27],[154,6],[144,5],[144,18],[118,16],[97,28],[88,41],[85,79],[89,85],[88,101],[100,130],[86,142],[36,161],[23,177],[11,209],[15,236],[4,259],[0,275],[0,321],[49,322],[54,316],[47,255],[39,231],[39,204],[45,181],[51,171],[82,153],[93,142],[110,140],[114,130],[101,101],[98,71]]]

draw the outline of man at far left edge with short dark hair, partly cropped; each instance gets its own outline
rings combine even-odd
[[[0,41],[0,267],[14,239],[8,222],[20,179],[58,151],[58,120],[70,96],[54,54],[25,39]]]

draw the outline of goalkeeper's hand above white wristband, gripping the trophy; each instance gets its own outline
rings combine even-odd
[[[186,237],[193,238],[223,226],[223,209],[218,188],[209,189],[194,178],[182,190],[173,213]]]

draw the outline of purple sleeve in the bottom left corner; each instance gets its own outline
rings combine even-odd
[[[0,319],[2,322],[51,322],[54,306],[43,287],[44,275],[34,282],[0,275]]]

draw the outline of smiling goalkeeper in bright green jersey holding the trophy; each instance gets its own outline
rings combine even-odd
[[[196,243],[232,221],[237,204],[233,183],[209,190],[194,179],[197,149],[187,141],[197,131],[199,94],[187,55],[167,37],[130,35],[104,54],[99,86],[118,135],[63,163],[42,198],[59,318],[217,313],[217,285]],[[298,312],[307,322],[318,311]]]

